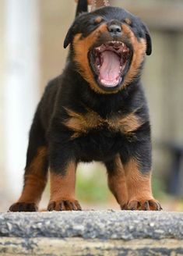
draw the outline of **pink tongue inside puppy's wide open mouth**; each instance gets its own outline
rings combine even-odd
[[[100,67],[100,82],[107,87],[118,85],[120,72],[120,59],[117,54],[111,51],[104,51],[101,54],[103,64]]]

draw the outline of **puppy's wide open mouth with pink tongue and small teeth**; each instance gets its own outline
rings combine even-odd
[[[112,89],[121,84],[128,71],[132,52],[121,41],[109,41],[90,52],[90,65],[102,87]]]

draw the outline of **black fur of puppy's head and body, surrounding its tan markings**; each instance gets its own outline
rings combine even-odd
[[[44,96],[38,105],[36,116],[30,131],[30,145],[27,153],[27,165],[35,155],[37,147],[46,145],[49,148],[49,165],[51,170],[64,174],[65,165],[69,161],[110,162],[116,154],[121,161],[138,158],[140,170],[149,172],[151,169],[150,119],[146,98],[139,76],[136,76],[128,87],[115,94],[97,94],[90,84],[79,74],[76,64],[72,61],[74,55],[72,39],[77,33],[87,37],[98,25],[94,19],[102,16],[104,21],[111,19],[132,20],[132,30],[137,38],[147,38],[147,55],[151,53],[151,40],[145,25],[131,13],[123,9],[105,7],[93,13],[84,13],[76,18],[65,37],[65,47],[71,44],[69,59],[61,76],[48,84]],[[120,113],[126,116],[132,112],[143,120],[143,125],[131,136],[119,131],[111,131],[107,126],[88,130],[83,136],[71,140],[73,134],[64,123],[69,116],[65,108],[84,113],[86,107],[97,112],[102,118]]]

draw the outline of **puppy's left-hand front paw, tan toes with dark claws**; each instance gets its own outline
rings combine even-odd
[[[63,199],[58,201],[50,201],[48,211],[82,211],[79,202],[75,199]]]

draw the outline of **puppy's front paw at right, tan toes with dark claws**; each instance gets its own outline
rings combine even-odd
[[[127,204],[127,210],[139,210],[139,211],[160,211],[162,210],[160,203],[156,201],[155,199],[150,199],[150,200],[134,200],[134,201],[129,201]]]

